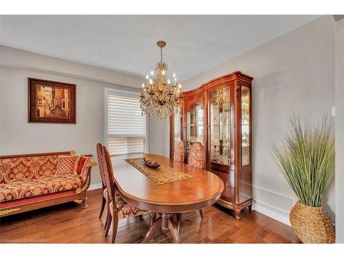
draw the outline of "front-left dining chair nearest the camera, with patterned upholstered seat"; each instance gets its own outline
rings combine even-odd
[[[105,232],[105,237],[109,233],[110,226],[112,224],[112,239],[111,243],[114,244],[117,235],[118,220],[127,219],[129,217],[134,217],[142,214],[149,213],[149,211],[136,208],[131,204],[125,202],[122,197],[120,197],[118,191],[116,190],[116,184],[114,180],[114,171],[112,169],[111,157],[106,147],[103,147],[103,157],[107,164],[105,168],[105,184],[107,186],[107,200],[109,202],[109,222],[107,223],[107,229]],[[155,215],[155,214],[154,214]]]

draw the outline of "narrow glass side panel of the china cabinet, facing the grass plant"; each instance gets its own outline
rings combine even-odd
[[[250,164],[250,89],[241,87],[241,166]]]

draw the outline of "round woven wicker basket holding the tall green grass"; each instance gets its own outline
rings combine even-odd
[[[301,202],[290,211],[290,224],[299,239],[305,244],[334,243],[335,233],[330,216],[322,207],[312,207]]]

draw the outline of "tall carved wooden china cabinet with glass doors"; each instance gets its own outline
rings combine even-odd
[[[252,208],[252,80],[233,72],[184,92],[182,114],[171,117],[171,156],[182,140],[187,162],[193,142],[202,142],[204,169],[225,184],[217,204],[237,219],[242,209]]]

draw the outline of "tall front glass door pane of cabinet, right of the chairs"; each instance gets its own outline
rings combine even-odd
[[[210,156],[211,162],[230,164],[230,90],[210,92]]]

